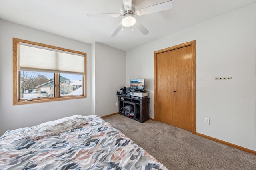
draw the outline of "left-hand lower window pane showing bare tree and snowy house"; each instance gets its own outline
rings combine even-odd
[[[20,99],[54,97],[54,73],[20,71]]]

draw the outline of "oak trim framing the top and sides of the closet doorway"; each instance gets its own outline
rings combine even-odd
[[[190,42],[186,42],[186,43],[182,43],[179,45],[175,45],[173,47],[168,47],[165,49],[160,49],[158,51],[154,51],[154,121],[157,121],[157,68],[156,68],[156,57],[157,54],[159,53],[164,53],[166,51],[171,51],[171,50],[175,50],[175,49],[179,49],[182,47],[187,47],[187,46],[192,46],[192,56],[194,58],[194,75],[193,75],[193,89],[192,89],[192,93],[194,96],[194,107],[192,110],[192,126],[193,126],[193,130],[192,133],[196,134],[196,40],[190,41]]]

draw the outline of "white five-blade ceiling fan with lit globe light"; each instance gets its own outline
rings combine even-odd
[[[123,17],[122,21],[118,24],[114,32],[111,34],[110,37],[115,37],[116,34],[121,30],[121,28],[124,27],[131,27],[136,26],[142,34],[146,35],[149,33],[149,31],[142,25],[138,20],[134,18],[135,15],[144,15],[144,14],[150,14],[153,12],[168,10],[172,8],[172,1],[169,0],[167,2],[163,2],[160,4],[156,4],[153,6],[148,6],[146,8],[142,8],[140,10],[135,11],[134,4],[132,4],[132,0],[123,0],[123,5],[120,10],[120,14],[86,14],[86,18],[102,18],[102,17]]]

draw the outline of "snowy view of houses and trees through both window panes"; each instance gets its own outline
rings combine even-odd
[[[82,95],[82,75],[59,74],[59,96]],[[55,96],[54,73],[20,71],[20,99]]]

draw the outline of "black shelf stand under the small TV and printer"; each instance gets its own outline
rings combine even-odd
[[[131,97],[118,97],[118,103],[119,114],[124,115],[126,117],[130,117],[131,119],[134,119],[142,123],[149,119],[149,98],[134,99]],[[125,114],[124,112],[124,107],[127,105],[131,105],[133,107],[133,111],[131,112],[131,114]],[[132,116],[132,113],[134,113],[134,116]]]

